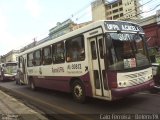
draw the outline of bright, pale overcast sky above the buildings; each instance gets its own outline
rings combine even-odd
[[[0,0],[0,55],[18,50],[48,36],[49,29],[57,22],[71,18],[75,23],[92,19],[90,3],[93,0]],[[112,0],[109,0],[112,1]],[[141,4],[150,0],[141,0]],[[155,14],[150,11],[160,0],[152,0],[143,6],[143,16]]]

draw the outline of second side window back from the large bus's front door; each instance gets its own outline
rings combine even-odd
[[[59,42],[53,45],[53,63],[64,63],[65,61],[65,51],[64,42]]]

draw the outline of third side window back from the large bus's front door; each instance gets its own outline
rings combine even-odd
[[[52,64],[51,46],[43,48],[43,64],[44,65]]]

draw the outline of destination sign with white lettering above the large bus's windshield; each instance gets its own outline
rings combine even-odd
[[[134,31],[134,32],[143,32],[142,28],[133,23],[127,22],[114,22],[114,21],[106,21],[105,22],[106,30],[109,31]]]

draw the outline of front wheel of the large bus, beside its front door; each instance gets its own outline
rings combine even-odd
[[[78,80],[74,81],[72,84],[72,95],[76,102],[79,103],[85,102],[86,96],[85,96],[84,85]]]

